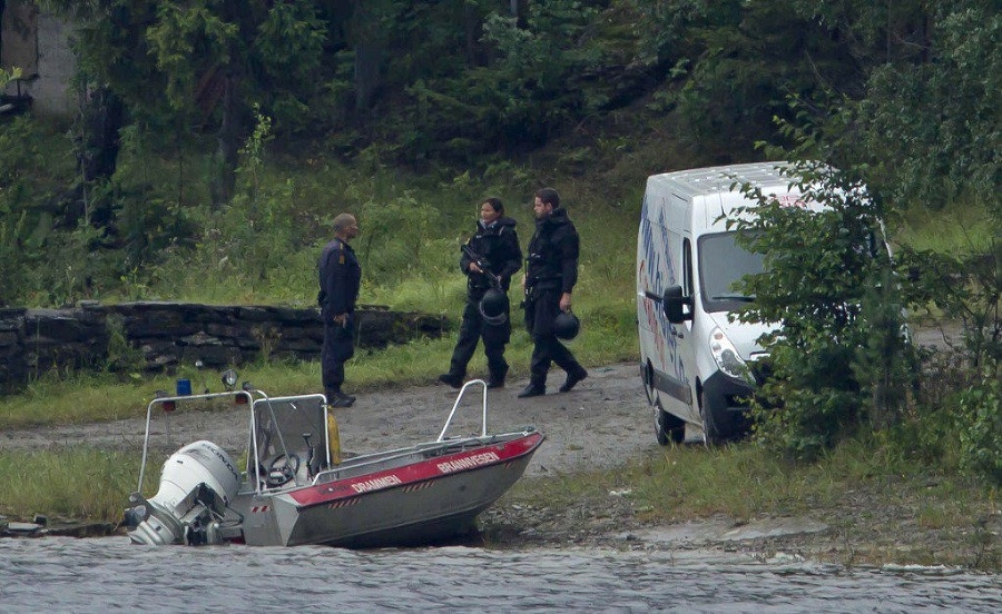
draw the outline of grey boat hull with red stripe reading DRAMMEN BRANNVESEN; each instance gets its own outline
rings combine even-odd
[[[543,438],[525,433],[459,452],[449,452],[446,442],[394,458],[356,457],[321,474],[315,485],[242,494],[232,507],[244,516],[243,539],[249,545],[429,543],[468,528],[522,476]],[[405,464],[338,477],[367,462]]]

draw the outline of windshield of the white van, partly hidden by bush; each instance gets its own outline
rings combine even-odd
[[[707,311],[733,311],[755,297],[734,287],[745,275],[765,270],[764,256],[739,246],[737,232],[719,232],[699,237],[699,287]]]

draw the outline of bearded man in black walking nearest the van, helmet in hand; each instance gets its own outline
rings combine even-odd
[[[567,210],[560,207],[560,195],[553,188],[536,192],[532,210],[536,234],[529,241],[524,289],[525,328],[536,346],[529,364],[529,385],[519,393],[519,398],[547,394],[551,362],[567,372],[561,393],[588,377],[588,372],[560,343],[553,329],[557,314],[570,309],[571,291],[578,283],[578,231]]]

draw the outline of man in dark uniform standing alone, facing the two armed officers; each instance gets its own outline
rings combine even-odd
[[[324,394],[333,407],[351,407],[355,397],[341,390],[344,364],[355,353],[355,301],[362,281],[362,267],[348,241],[358,236],[358,222],[351,214],[334,218],[334,240],[321,252],[320,294],[321,317],[324,320],[324,348],[321,372]]]

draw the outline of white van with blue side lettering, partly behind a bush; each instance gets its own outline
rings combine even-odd
[[[755,205],[735,184],[750,184],[780,202],[805,206],[785,162],[699,168],[647,179],[637,237],[640,376],[655,408],[658,442],[707,443],[747,428],[753,390],[746,365],[763,355],[764,324],[731,323],[750,299],[733,283],[763,270],[762,255],[727,229],[735,208]],[[812,207],[813,208],[813,207]]]

